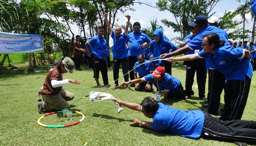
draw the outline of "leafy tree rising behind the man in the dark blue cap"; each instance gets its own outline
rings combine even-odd
[[[174,32],[180,32],[183,39],[190,33],[188,24],[198,15],[209,16],[212,9],[220,0],[158,0],[160,11],[169,11],[175,22],[163,19],[162,23],[172,27]]]

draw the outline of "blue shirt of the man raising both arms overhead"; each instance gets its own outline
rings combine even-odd
[[[113,58],[123,59],[127,58],[127,48],[126,48],[126,39],[127,35],[125,33],[121,34],[120,38],[116,37],[116,33],[112,30],[112,34],[110,34],[114,45],[112,46]]]

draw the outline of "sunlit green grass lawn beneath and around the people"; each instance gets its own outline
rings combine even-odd
[[[67,128],[45,128],[37,124],[37,120],[42,114],[38,114],[37,92],[42,87],[47,67],[38,66],[35,70],[43,70],[41,73],[29,72],[23,74],[23,69],[18,71],[3,70],[0,76],[0,145],[1,146],[82,146],[84,140],[89,142],[89,146],[233,146],[234,143],[219,142],[207,139],[189,139],[177,135],[170,135],[161,132],[154,132],[142,127],[131,127],[129,123],[132,118],[138,118],[144,122],[152,122],[142,113],[132,111],[126,107],[117,113],[117,105],[111,100],[90,103],[89,98],[81,99],[74,104],[71,109],[81,111],[86,118],[82,123]],[[113,72],[109,70],[109,72]],[[121,79],[123,81],[120,69]],[[173,76],[178,77],[183,87],[185,86],[185,67],[173,66]],[[109,73],[109,81],[113,81],[113,75]],[[75,94],[75,100],[87,95],[90,91],[96,91],[96,84],[93,78],[93,70],[83,67],[82,71],[74,71],[73,74],[66,73],[64,78],[75,78],[82,81],[82,85],[69,84],[64,89]],[[208,78],[207,78],[208,80]],[[100,76],[99,81],[103,84]],[[196,80],[195,80],[196,81]],[[252,78],[251,90],[242,119],[256,120],[256,100],[255,89],[256,79]],[[194,82],[196,84],[196,82]],[[206,83],[208,84],[208,83]],[[113,82],[112,82],[113,87]],[[207,91],[206,86],[206,91]],[[193,88],[195,96],[198,89]],[[154,87],[154,91],[156,88]],[[123,88],[106,91],[117,99],[123,101],[140,103],[146,96],[154,96],[153,93],[136,92],[134,87],[129,91]],[[163,94],[163,93],[162,93]],[[72,101],[69,101],[71,103]],[[185,100],[168,100],[174,108],[180,110],[201,110],[203,104],[198,97]],[[223,106],[223,93],[221,97]],[[43,124],[63,125],[76,122],[82,116],[74,114],[73,120],[68,122],[61,114],[53,114],[41,120]]]

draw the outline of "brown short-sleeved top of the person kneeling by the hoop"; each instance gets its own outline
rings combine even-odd
[[[44,95],[44,94],[52,94],[53,95],[53,94],[59,93],[62,90],[62,87],[53,88],[52,84],[51,84],[51,80],[57,80],[57,81],[62,80],[61,74],[59,73],[57,66],[53,66],[53,68],[50,69],[50,71],[48,72],[48,74],[45,78],[45,83],[44,83],[43,89],[41,91],[42,95]]]

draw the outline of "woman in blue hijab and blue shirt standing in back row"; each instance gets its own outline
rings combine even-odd
[[[168,40],[168,38],[163,36],[162,29],[156,29],[153,33],[153,37],[154,40],[150,43],[150,53],[152,53],[154,57],[158,57],[161,54],[170,53],[178,49]],[[155,62],[155,68],[156,66],[165,66],[166,73],[172,75],[172,63],[159,60]]]

